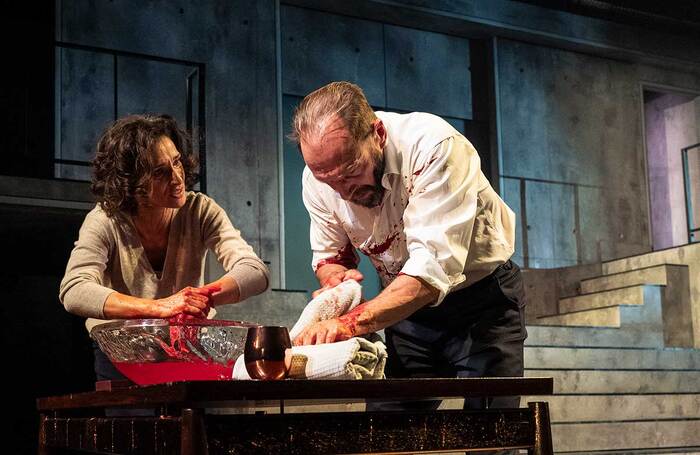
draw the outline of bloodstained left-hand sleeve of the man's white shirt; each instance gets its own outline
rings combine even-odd
[[[339,264],[348,269],[357,268],[359,256],[340,220],[323,203],[317,189],[309,184],[313,176],[304,170],[302,197],[309,212],[309,242],[313,258],[311,268],[314,272],[326,264]]]

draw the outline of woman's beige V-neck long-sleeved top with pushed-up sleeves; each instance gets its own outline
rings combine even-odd
[[[186,286],[204,284],[204,260],[211,250],[226,275],[236,280],[240,299],[265,291],[269,271],[213,199],[188,192],[170,225],[163,270],[146,257],[131,217],[108,217],[97,205],[85,217],[66,265],[59,298],[70,313],[88,318],[91,330],[104,320],[104,304],[114,291],[158,299]],[[211,312],[210,312],[211,314]]]

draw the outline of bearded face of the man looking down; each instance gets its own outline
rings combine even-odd
[[[356,142],[342,120],[336,118],[316,136],[301,140],[301,153],[316,179],[335,190],[343,200],[376,207],[384,197],[386,132],[376,120],[372,132]]]

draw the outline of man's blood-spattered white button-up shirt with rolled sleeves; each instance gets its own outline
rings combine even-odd
[[[481,172],[472,144],[449,123],[422,112],[376,114],[387,130],[381,204],[344,201],[304,169],[311,265],[355,268],[359,249],[384,286],[399,273],[419,277],[440,292],[437,305],[512,256],[515,214]]]

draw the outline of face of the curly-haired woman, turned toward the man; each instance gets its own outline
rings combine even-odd
[[[185,204],[185,169],[180,152],[167,136],[156,143],[151,188],[141,206],[179,208]]]

